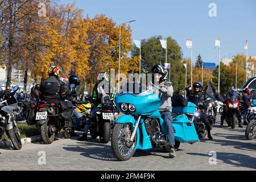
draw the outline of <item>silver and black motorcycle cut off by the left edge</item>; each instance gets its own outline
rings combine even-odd
[[[22,148],[19,129],[15,121],[15,112],[19,110],[19,106],[14,94],[18,89],[19,86],[14,86],[13,92],[9,92],[9,90],[0,91],[0,141],[6,133],[15,150]]]

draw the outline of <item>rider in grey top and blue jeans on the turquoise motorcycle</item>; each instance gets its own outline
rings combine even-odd
[[[174,158],[176,154],[175,154],[174,127],[172,126],[172,102],[171,102],[171,97],[174,94],[174,89],[172,88],[172,86],[164,85],[164,81],[167,80],[168,72],[166,68],[164,68],[162,65],[155,65],[152,68],[152,73],[154,73],[154,82],[159,83],[159,88],[161,90],[156,89],[153,86],[150,86],[148,90],[151,93],[156,94],[162,102],[162,104],[159,107],[159,111],[160,111],[161,117],[164,120],[164,126],[167,131],[168,144],[171,149],[169,156],[171,158]]]

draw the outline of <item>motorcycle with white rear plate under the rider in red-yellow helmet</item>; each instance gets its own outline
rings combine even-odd
[[[41,135],[45,144],[51,144],[55,139],[55,134],[64,134],[65,138],[71,138],[72,131],[72,107],[73,104],[67,100],[68,106],[65,111],[60,112],[59,106],[54,103],[39,101],[36,104],[35,120],[40,126]]]

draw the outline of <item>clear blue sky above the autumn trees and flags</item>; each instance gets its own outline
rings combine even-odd
[[[216,3],[217,17],[208,15],[209,3]],[[255,0],[77,0],[76,6],[84,10],[84,16],[105,14],[117,24],[135,19],[130,24],[133,39],[171,36],[183,49],[183,57],[191,57],[191,51],[185,47],[187,38],[193,39],[194,60],[200,53],[204,61],[217,63],[214,39],[218,38],[221,57],[246,53],[243,49],[246,39],[249,39],[249,56],[256,56]]]

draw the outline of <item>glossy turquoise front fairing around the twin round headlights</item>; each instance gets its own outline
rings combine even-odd
[[[127,110],[123,111],[121,105],[125,103]],[[122,113],[134,113],[139,115],[148,115],[154,113],[161,105],[161,101],[156,94],[143,92],[140,94],[122,93],[115,96],[115,104],[117,109]],[[129,105],[135,106],[135,111],[129,109]]]

